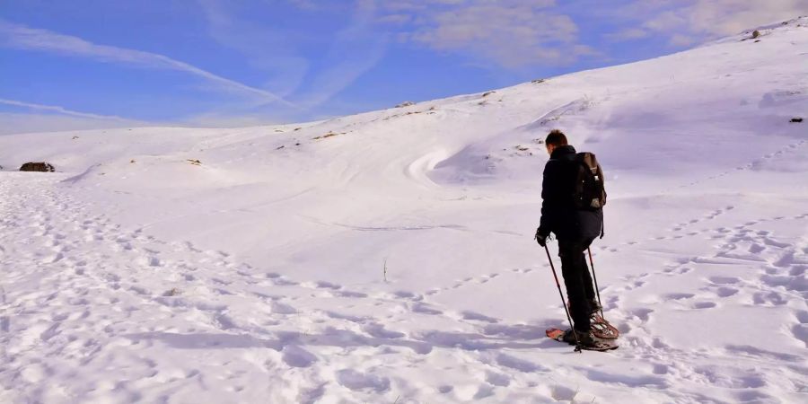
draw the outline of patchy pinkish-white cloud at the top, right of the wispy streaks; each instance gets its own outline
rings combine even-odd
[[[592,55],[592,48],[578,43],[572,18],[554,11],[554,5],[549,0],[400,0],[385,4],[390,14],[380,22],[409,13],[413,29],[400,38],[508,68],[563,65]]]

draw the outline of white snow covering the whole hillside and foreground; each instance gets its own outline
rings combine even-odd
[[[0,136],[0,402],[804,402],[808,19],[761,33],[301,125]],[[607,175],[610,353],[544,338],[554,127]]]

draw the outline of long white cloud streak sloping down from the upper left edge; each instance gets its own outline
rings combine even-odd
[[[0,20],[0,46],[40,50],[75,57],[88,57],[107,63],[180,71],[195,75],[207,83],[214,84],[216,88],[223,91],[250,97],[251,101],[257,103],[279,102],[286,106],[294,106],[291,102],[285,101],[275,93],[235,82],[171,57],[136,49],[99,45],[74,36],[29,28],[3,20]]]

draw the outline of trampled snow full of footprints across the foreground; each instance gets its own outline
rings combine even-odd
[[[784,328],[805,344],[808,246],[766,229],[776,222],[803,223],[808,214],[689,230],[730,214],[733,206],[725,206],[677,224],[674,234],[709,233],[716,253],[674,260],[658,272],[604,287],[607,317],[624,333],[625,348],[601,357],[587,354],[590,362],[602,359],[606,367],[579,361],[561,379],[547,365],[548,354],[568,348],[542,338],[549,324],[509,325],[429,300],[444,289],[526,276],[532,268],[467,277],[425,294],[369,295],[328,282],[263,273],[223,251],[198,250],[189,242],[162,242],[142,230],[123,229],[55,187],[58,174],[7,177],[0,182],[10,196],[2,202],[2,257],[4,285],[11,286],[0,290],[0,383],[10,400],[182,400],[190,397],[183,394],[203,389],[245,400],[314,402],[333,394],[347,400],[375,397],[389,392],[391,385],[413,400],[435,394],[476,400],[493,395],[497,386],[509,389],[508,400],[569,400],[578,389],[575,381],[587,379],[618,391],[615,397],[628,387],[664,391],[679,385],[666,397],[767,401],[774,400],[767,391],[804,386],[808,372],[804,356],[742,341],[722,350],[672,347],[654,330],[654,308],[623,302],[624,296],[671,277],[687,277],[677,285],[689,288],[656,296],[657,303],[714,311],[728,304],[777,308],[797,302],[803,307]],[[638,248],[658,240],[626,245]],[[614,250],[606,249],[602,253]],[[754,267],[757,279],[705,277],[695,270],[739,261]],[[301,305],[312,302],[333,309],[306,304],[302,314]],[[357,307],[378,315],[343,311]],[[434,329],[410,327],[420,319]],[[158,346],[171,347],[171,355],[150,353]],[[172,360],[188,355],[195,359]],[[462,371],[452,372],[454,382],[426,388],[385,375],[385,369],[445,366],[446,356],[452,358],[452,370]],[[618,359],[650,368],[651,375],[610,370],[609,360]],[[120,363],[127,365],[116,365]],[[116,371],[109,373],[112,368]],[[74,382],[47,382],[51,378]]]

